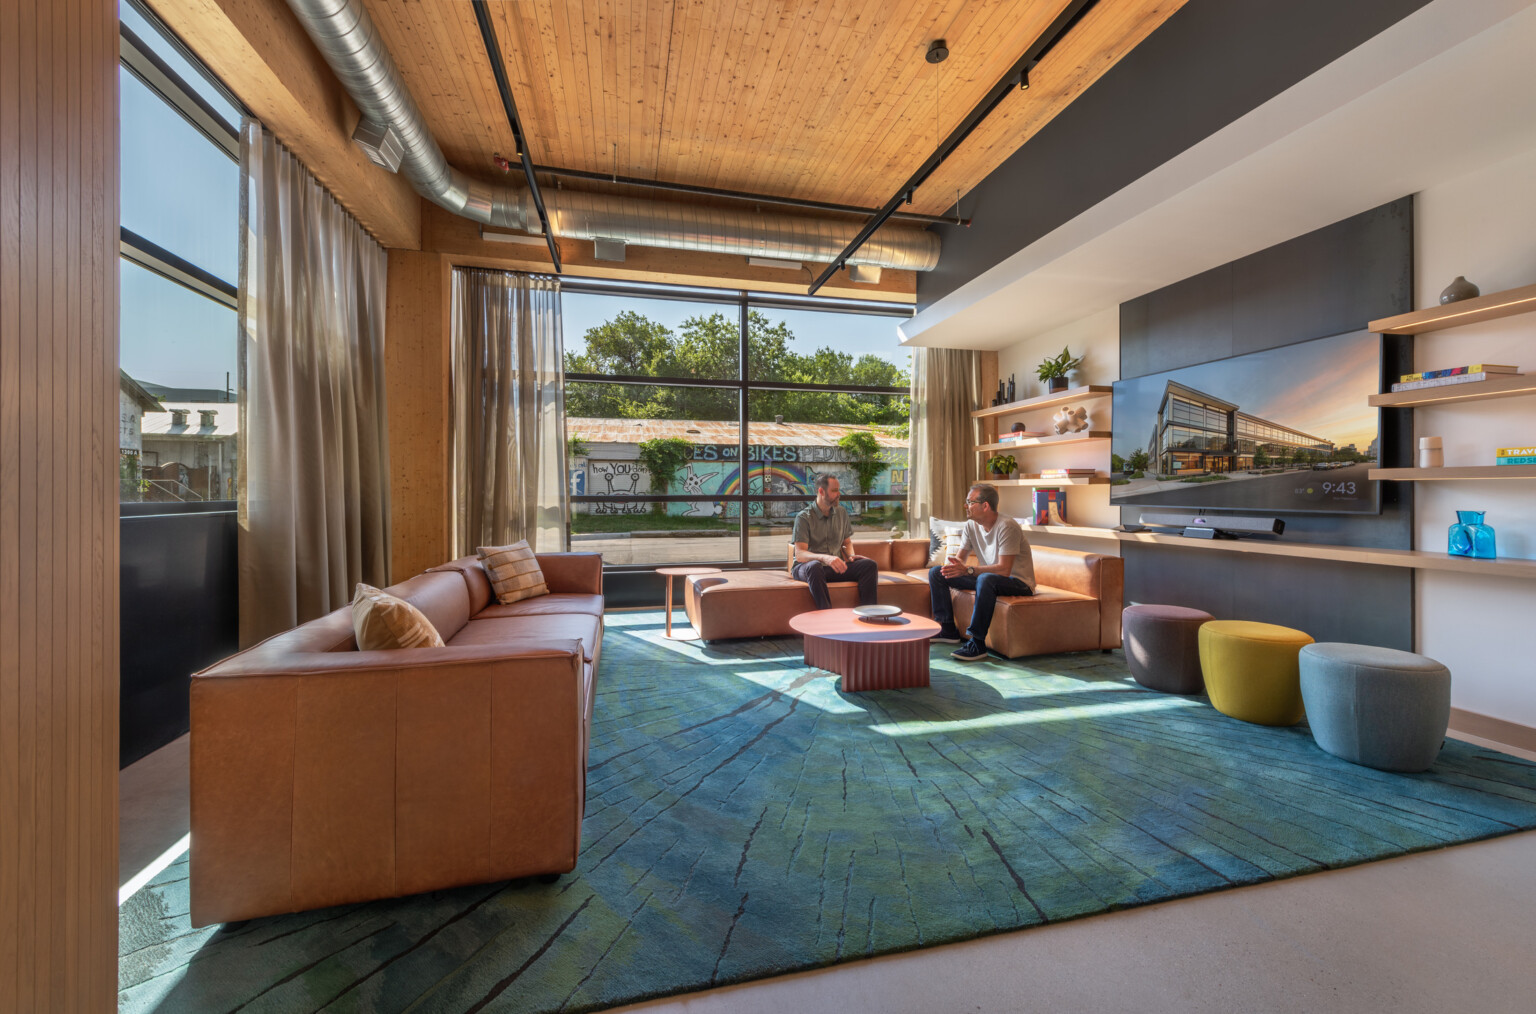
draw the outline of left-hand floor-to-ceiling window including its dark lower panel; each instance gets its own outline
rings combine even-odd
[[[187,731],[190,673],[237,647],[241,109],[118,9],[121,764]]]

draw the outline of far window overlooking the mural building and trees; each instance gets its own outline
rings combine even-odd
[[[823,473],[856,530],[906,527],[908,309],[562,290],[573,548],[608,565],[782,564]]]

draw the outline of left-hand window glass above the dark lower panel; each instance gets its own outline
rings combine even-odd
[[[120,498],[233,499],[240,108],[149,14],[120,17]]]

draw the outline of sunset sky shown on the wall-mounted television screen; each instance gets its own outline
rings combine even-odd
[[[1381,390],[1381,338],[1352,332],[1118,381],[1112,424],[1121,458],[1146,449],[1169,379],[1364,453],[1378,432],[1379,410],[1367,399]]]

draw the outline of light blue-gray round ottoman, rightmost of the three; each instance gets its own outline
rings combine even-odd
[[[1450,670],[1412,651],[1322,642],[1301,648],[1301,699],[1319,747],[1384,771],[1424,771],[1450,724]]]

